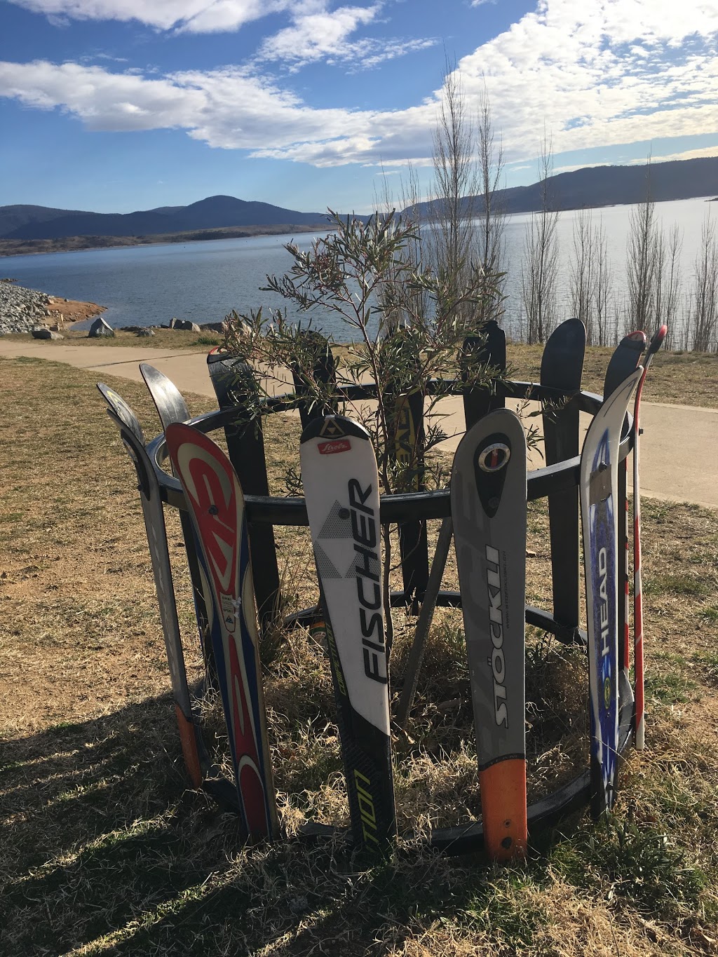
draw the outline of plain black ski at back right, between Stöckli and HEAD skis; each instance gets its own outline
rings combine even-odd
[[[543,427],[546,464],[555,465],[578,455],[578,403],[567,395],[581,389],[586,351],[586,326],[568,319],[550,334],[541,357],[541,386],[557,389],[560,408],[544,402]],[[569,488],[549,496],[549,534],[553,617],[562,625],[577,628],[580,617],[580,563],[578,554],[578,489]]]

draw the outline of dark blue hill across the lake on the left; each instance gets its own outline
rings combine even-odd
[[[243,226],[324,226],[323,212],[284,210],[234,196],[209,196],[190,206],[138,212],[50,210],[42,206],[0,207],[0,238],[59,239],[67,236],[140,236]]]

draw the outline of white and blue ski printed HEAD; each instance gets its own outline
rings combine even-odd
[[[596,412],[581,453],[580,498],[586,566],[591,809],[610,811],[617,790],[618,759],[618,446],[639,367]]]

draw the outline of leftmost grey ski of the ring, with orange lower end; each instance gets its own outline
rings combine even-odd
[[[137,421],[137,416],[114,389],[110,389],[109,386],[105,386],[101,382],[98,383],[98,389],[100,389],[102,397],[109,406],[108,415],[120,429],[124,449],[137,472],[182,754],[191,783],[195,788],[199,788],[202,785],[202,770],[208,762],[192,714],[190,688],[187,681],[185,657],[182,650],[182,638],[177,620],[177,606],[172,584],[172,571],[169,564],[167,531],[160,497],[160,486],[145,451],[145,436],[140,423]]]

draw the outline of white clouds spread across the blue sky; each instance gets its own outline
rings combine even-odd
[[[90,0],[23,2],[54,3],[65,11],[74,2],[90,9]],[[123,3],[129,10],[136,0],[94,3],[115,8]],[[295,2],[294,26],[268,40],[264,56],[273,51],[280,56],[284,49],[288,58],[291,42],[300,59],[330,56],[328,38],[336,48],[347,47],[350,33],[366,25],[377,6],[341,8],[334,17],[325,12],[323,0]],[[224,5],[213,5],[213,22],[222,11],[236,14],[239,8],[245,15],[255,9],[252,0],[224,0]],[[181,10],[187,29],[192,16],[204,16],[205,27],[210,23],[211,9],[199,0],[193,5],[177,0],[171,8],[163,0],[152,6],[153,15],[163,10],[168,16]],[[312,35],[312,22],[323,24],[325,33]],[[718,131],[717,40],[718,5],[702,0],[680,5],[674,0],[584,5],[541,0],[535,12],[463,57],[458,70],[469,103],[476,101],[485,81],[506,162],[526,162],[535,156],[544,128],[557,155]],[[175,127],[208,145],[246,149],[258,157],[318,167],[399,167],[408,161],[430,162],[440,91],[429,96],[417,91],[424,99],[404,110],[316,109],[249,69],[142,77],[41,61],[0,64],[0,95],[29,106],[57,107],[90,129]]]

